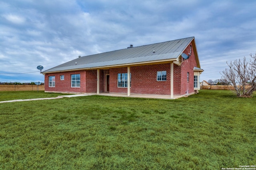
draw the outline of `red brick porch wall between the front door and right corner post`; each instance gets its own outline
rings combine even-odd
[[[165,71],[166,81],[157,81],[157,71]],[[170,94],[170,64],[132,66],[131,93],[137,94]],[[127,73],[127,67],[110,68],[110,92],[127,93],[127,88],[117,87],[118,73]]]

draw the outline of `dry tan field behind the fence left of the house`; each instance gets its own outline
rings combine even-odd
[[[37,85],[0,85],[0,91],[35,91]],[[39,85],[38,90],[44,90],[44,85]]]

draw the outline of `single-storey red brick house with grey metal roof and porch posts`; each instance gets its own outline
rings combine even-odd
[[[45,92],[166,94],[173,98],[198,92],[202,71],[195,39],[188,37],[78,57],[42,73]]]

